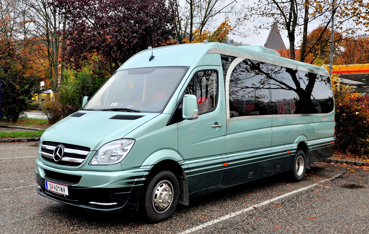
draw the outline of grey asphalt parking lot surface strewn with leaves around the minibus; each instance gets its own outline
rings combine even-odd
[[[369,233],[369,171],[317,163],[305,179],[285,174],[190,199],[167,221],[103,213],[36,192],[37,142],[0,144],[0,233]]]

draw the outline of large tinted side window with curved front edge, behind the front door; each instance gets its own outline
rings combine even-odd
[[[245,59],[232,71],[229,85],[230,117],[271,114],[268,65]]]

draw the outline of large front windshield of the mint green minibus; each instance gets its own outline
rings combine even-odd
[[[89,100],[83,110],[161,112],[187,67],[118,70]]]

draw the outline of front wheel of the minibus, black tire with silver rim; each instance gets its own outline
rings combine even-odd
[[[170,171],[159,171],[149,178],[143,191],[142,212],[151,222],[168,219],[179,198],[179,183]]]

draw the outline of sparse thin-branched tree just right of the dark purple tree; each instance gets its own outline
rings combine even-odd
[[[234,19],[230,32],[238,35],[244,33],[241,27],[244,19],[239,16],[245,11],[245,7],[236,4],[236,0],[170,0],[169,5],[177,43],[192,42],[197,35],[208,34],[220,16]]]

